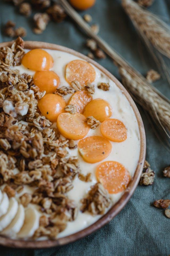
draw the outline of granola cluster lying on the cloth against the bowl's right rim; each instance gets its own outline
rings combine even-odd
[[[152,185],[154,182],[155,173],[151,168],[149,167],[149,163],[145,161],[144,167],[143,167],[143,173],[141,175],[141,179],[139,181],[140,185]]]

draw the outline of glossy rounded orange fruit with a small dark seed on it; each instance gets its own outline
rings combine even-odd
[[[38,101],[39,110],[51,122],[57,121],[58,115],[64,112],[65,106],[65,100],[61,96],[53,93],[45,94]]]

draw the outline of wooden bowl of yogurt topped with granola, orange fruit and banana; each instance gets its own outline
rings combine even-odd
[[[50,43],[11,45],[0,44],[0,243],[64,245],[129,201],[145,161],[143,122],[95,61]]]

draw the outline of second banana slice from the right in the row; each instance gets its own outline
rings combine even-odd
[[[24,217],[25,217],[25,212],[24,212],[24,207],[22,205],[18,206],[18,211],[15,215],[15,218],[12,220],[10,225],[4,229],[1,234],[6,235],[11,238],[15,238],[16,234],[20,231],[20,229],[23,226],[24,223]]]

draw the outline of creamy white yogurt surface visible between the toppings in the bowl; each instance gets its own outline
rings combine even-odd
[[[52,55],[54,60],[54,65],[52,71],[56,72],[60,77],[60,86],[69,86],[65,80],[65,67],[67,63],[75,59],[80,59],[72,54],[65,53],[57,50],[48,50],[45,49],[50,55]],[[28,50],[26,50],[27,52]],[[16,67],[15,67],[16,68]],[[28,73],[34,75],[35,71],[25,68],[23,65],[17,66],[17,69],[20,73]],[[93,99],[101,98],[109,102],[113,109],[113,115],[111,118],[119,119],[124,123],[127,129],[127,139],[123,142],[112,142],[112,152],[111,154],[104,159],[104,161],[117,161],[126,167],[129,171],[130,176],[133,177],[136,167],[138,165],[139,154],[140,154],[140,135],[137,119],[135,117],[134,111],[130,106],[125,95],[122,91],[116,86],[116,84],[110,80],[105,74],[103,74],[99,69],[94,66],[96,71],[96,79],[92,83],[95,85],[95,93],[92,95]],[[109,91],[103,91],[97,88],[101,82],[110,84]],[[65,100],[68,102],[71,94],[66,95]],[[11,105],[12,107],[12,105]],[[86,136],[101,135],[100,125],[95,129],[88,132]],[[97,163],[87,163],[78,153],[78,149],[69,150],[70,155],[78,155],[80,161],[80,170],[83,174],[92,173],[91,182],[83,182],[78,178],[75,178],[73,181],[74,188],[70,190],[67,194],[70,199],[73,199],[80,206],[80,199],[86,195],[87,191],[90,189],[90,186],[97,182],[95,177]],[[22,193],[23,194],[23,193]],[[112,205],[115,204],[121,197],[121,193],[110,194],[112,199]],[[33,205],[32,205],[33,206]],[[33,206],[34,207],[34,206]],[[73,222],[68,222],[67,227],[62,231],[58,237],[64,237],[66,235],[73,234],[79,230],[86,228],[92,223],[96,222],[101,215],[92,216],[90,213],[81,213],[79,211],[78,217]]]

